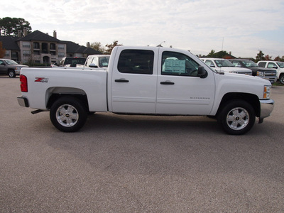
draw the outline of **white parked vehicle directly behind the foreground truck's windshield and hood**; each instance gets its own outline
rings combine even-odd
[[[224,58],[201,58],[209,67],[217,72],[231,72],[252,75],[252,71],[242,67],[235,67],[229,60]]]

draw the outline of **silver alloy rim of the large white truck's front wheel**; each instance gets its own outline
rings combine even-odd
[[[226,116],[226,124],[234,130],[241,130],[249,124],[249,112],[241,107],[231,109]]]

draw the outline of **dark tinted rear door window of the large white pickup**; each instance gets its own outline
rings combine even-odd
[[[153,63],[152,50],[123,50],[119,55],[117,69],[122,73],[152,75]]]

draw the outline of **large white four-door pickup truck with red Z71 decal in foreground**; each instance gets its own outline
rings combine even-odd
[[[270,116],[271,82],[217,73],[186,50],[117,46],[107,70],[23,68],[22,107],[50,111],[60,131],[77,131],[95,111],[216,118],[229,134],[243,134]]]

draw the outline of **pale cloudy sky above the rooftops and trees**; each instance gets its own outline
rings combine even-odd
[[[284,55],[283,0],[13,0],[0,18],[24,18],[32,31],[80,45],[119,40],[207,55]]]

